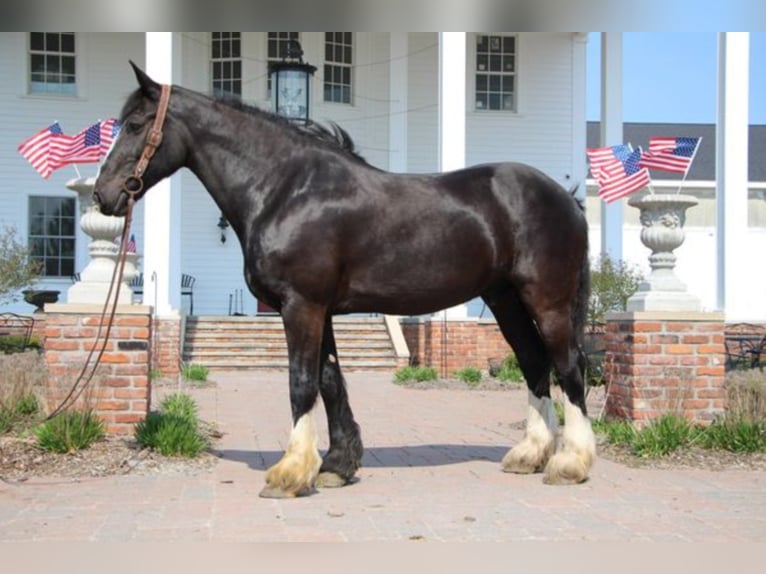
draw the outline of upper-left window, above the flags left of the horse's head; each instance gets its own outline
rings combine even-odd
[[[77,94],[74,32],[30,32],[29,91]]]

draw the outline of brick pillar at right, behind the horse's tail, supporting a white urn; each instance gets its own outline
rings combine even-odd
[[[663,414],[707,424],[724,410],[723,313],[631,312],[607,318],[606,414],[644,426]]]

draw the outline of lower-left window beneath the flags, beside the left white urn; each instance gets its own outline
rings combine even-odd
[[[29,251],[46,277],[71,277],[75,259],[75,199],[29,198]]]

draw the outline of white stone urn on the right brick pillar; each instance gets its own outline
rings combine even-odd
[[[628,311],[699,311],[700,300],[687,291],[674,273],[675,249],[684,242],[686,210],[697,205],[696,197],[652,194],[633,197],[628,205],[641,211],[641,243],[651,250],[651,273],[628,299]]]

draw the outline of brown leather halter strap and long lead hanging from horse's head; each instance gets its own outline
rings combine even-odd
[[[93,343],[93,347],[88,353],[87,358],[85,359],[85,364],[83,365],[80,374],[72,385],[72,388],[69,390],[69,393],[67,393],[61,403],[55,409],[53,409],[53,411],[51,411],[51,413],[46,417],[46,420],[53,418],[64,409],[71,407],[77,401],[77,399],[80,398],[80,395],[82,395],[83,391],[87,388],[93,379],[93,376],[96,373],[96,369],[101,363],[101,358],[106,351],[106,345],[109,342],[109,335],[112,331],[112,324],[114,323],[114,316],[117,312],[117,303],[120,298],[119,287],[122,283],[122,275],[125,269],[125,254],[127,252],[128,237],[130,236],[130,225],[133,219],[133,206],[136,203],[135,198],[136,195],[138,195],[138,193],[144,187],[144,180],[142,176],[146,171],[146,167],[149,165],[149,160],[152,159],[152,156],[154,156],[157,148],[162,143],[162,128],[165,124],[165,116],[167,115],[169,100],[170,86],[163,84],[162,92],[160,94],[160,102],[157,107],[157,115],[154,117],[152,129],[146,136],[146,143],[144,145],[144,150],[141,153],[141,158],[138,160],[136,167],[133,169],[133,174],[128,176],[122,184],[122,190],[128,195],[128,207],[125,213],[125,225],[122,228],[122,236],[120,238],[120,251],[118,253],[118,260],[114,266],[114,271],[112,272],[112,281],[109,285],[109,292],[106,295],[104,308],[101,311],[98,332],[96,333],[96,340]],[[115,287],[116,293],[114,293],[114,300],[112,300],[112,293],[115,291]],[[109,311],[110,301],[112,302],[111,311]],[[107,312],[109,312],[108,320],[106,320]],[[99,340],[101,338],[101,331],[103,329],[105,320],[106,333],[104,334],[104,341],[99,348]],[[93,359],[93,355],[97,349],[98,355],[96,356],[96,362],[92,367],[90,367],[90,362]],[[88,371],[89,367],[90,372],[86,376],[86,372]]]

